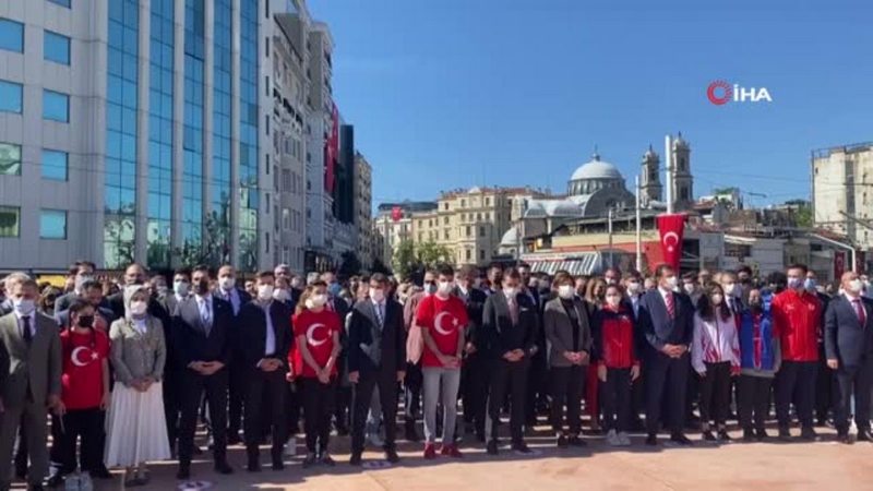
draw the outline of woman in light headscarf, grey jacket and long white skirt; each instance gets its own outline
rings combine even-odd
[[[124,318],[109,330],[116,383],[107,420],[106,465],[124,467],[125,486],[145,486],[147,460],[170,457],[160,380],[167,345],[160,321],[147,313],[148,290],[124,289]]]

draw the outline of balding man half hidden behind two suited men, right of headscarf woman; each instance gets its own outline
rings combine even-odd
[[[244,326],[240,322],[239,313],[242,307],[252,301],[251,295],[246,290],[237,287],[237,274],[234,266],[224,265],[218,268],[218,285],[213,291],[216,298],[219,298],[228,303],[234,309],[234,323],[230,325],[231,346],[241,346],[244,343],[240,337],[244,331]],[[227,443],[228,445],[237,445],[240,443],[239,430],[242,426],[242,406],[246,400],[246,378],[249,375],[248,368],[240,367],[242,364],[242,351],[237,349],[230,360],[228,367],[228,375],[230,378],[230,391],[228,397],[230,398],[228,412],[227,412]],[[239,368],[238,368],[239,367]]]

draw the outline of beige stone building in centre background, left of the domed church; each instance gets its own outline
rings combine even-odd
[[[530,200],[548,193],[531,188],[473,188],[443,193],[436,208],[411,214],[411,239],[449,248],[456,265],[488,264],[500,240]]]

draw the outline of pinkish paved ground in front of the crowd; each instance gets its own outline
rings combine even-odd
[[[543,428],[545,430],[545,428]],[[797,433],[797,430],[796,430]],[[288,467],[274,472],[267,467],[256,475],[242,469],[241,448],[231,451],[231,464],[237,472],[217,476],[206,462],[193,468],[193,479],[212,481],[214,490],[286,489],[325,491],[369,490],[785,490],[873,489],[873,444],[845,446],[834,442],[833,431],[822,431],[818,443],[731,443],[708,446],[698,441],[693,448],[659,446],[651,450],[634,439],[634,446],[623,450],[607,447],[599,440],[588,448],[558,451],[547,434],[529,438],[539,456],[523,457],[504,450],[497,458],[485,454],[479,445],[466,446],[461,462],[438,458],[423,462],[418,445],[402,444],[404,462],[387,469],[356,469],[349,467],[348,439],[336,439],[337,467],[315,467],[303,470],[300,457],[289,459]],[[737,434],[736,432],[733,433]],[[267,460],[263,452],[264,463]],[[378,459],[371,452],[367,459]],[[144,491],[179,489],[174,479],[176,465],[153,466],[153,482]],[[122,489],[120,479],[99,483],[100,490]],[[189,488],[195,489],[195,488]]]

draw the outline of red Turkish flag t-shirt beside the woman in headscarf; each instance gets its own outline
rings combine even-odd
[[[103,360],[109,357],[109,336],[103,331],[61,333],[63,374],[61,399],[68,409],[93,409],[103,399]]]

